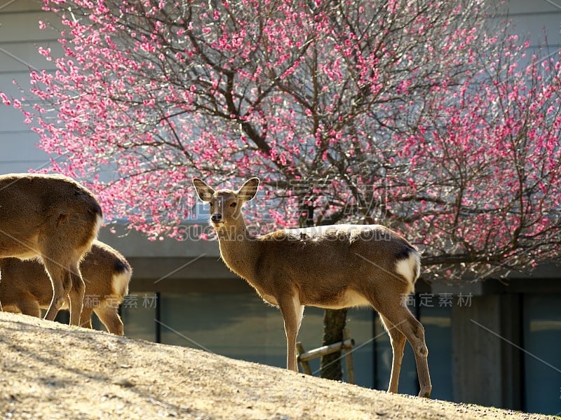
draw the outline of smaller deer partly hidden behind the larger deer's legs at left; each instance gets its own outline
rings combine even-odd
[[[123,335],[123,321],[119,304],[128,294],[128,283],[133,269],[119,251],[100,241],[80,263],[80,272],[86,283],[80,325],[92,328],[92,311],[107,331]],[[0,302],[4,311],[41,316],[53,297],[53,288],[39,261],[18,258],[0,258]],[[67,302],[61,309],[69,309]]]

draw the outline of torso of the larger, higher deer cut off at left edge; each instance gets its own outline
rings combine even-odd
[[[29,258],[44,247],[83,253],[101,217],[94,195],[67,176],[0,176],[0,255]]]

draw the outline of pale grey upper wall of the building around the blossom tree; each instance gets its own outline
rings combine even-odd
[[[53,63],[47,62],[37,48],[51,48],[60,52],[56,41],[58,31],[39,29],[39,20],[50,22],[55,27],[56,20],[41,10],[42,1],[16,0],[0,4],[0,89],[8,95],[20,97],[13,80],[24,88],[29,87],[30,69],[53,70]],[[498,3],[498,2],[497,2]],[[548,1],[507,1],[501,6],[503,20],[508,16],[517,31],[525,36],[533,34],[533,45],[540,45],[543,27],[548,29],[551,48],[561,45],[561,9]],[[27,172],[48,165],[48,156],[36,147],[38,137],[23,123],[22,114],[7,106],[0,106],[0,173]],[[217,245],[203,241],[156,241],[150,242],[141,235],[131,233],[117,237],[102,232],[102,240],[115,246],[131,258],[194,258],[205,254],[217,256]],[[222,264],[222,262],[219,262]],[[137,270],[140,273],[140,269]]]

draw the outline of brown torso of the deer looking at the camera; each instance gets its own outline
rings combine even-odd
[[[353,306],[348,293],[392,285],[407,294],[419,276],[417,250],[381,225],[288,229],[221,240],[228,267],[266,300],[297,293],[303,304]],[[297,291],[296,291],[297,290]],[[360,304],[367,304],[366,301]]]

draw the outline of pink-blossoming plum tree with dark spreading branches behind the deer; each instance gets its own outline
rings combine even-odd
[[[180,238],[193,176],[256,175],[258,228],[383,223],[426,279],[558,259],[560,57],[488,27],[481,0],[44,8],[64,55],[39,49],[56,71],[21,109],[50,169],[129,228]]]

